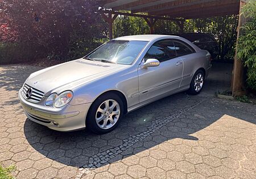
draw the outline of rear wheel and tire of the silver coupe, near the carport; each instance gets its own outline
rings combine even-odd
[[[195,75],[193,76],[193,78],[191,80],[188,92],[191,95],[199,94],[202,91],[203,87],[204,87],[204,79],[205,79],[204,71],[203,70],[197,70]],[[195,86],[196,82],[197,82],[197,86]]]

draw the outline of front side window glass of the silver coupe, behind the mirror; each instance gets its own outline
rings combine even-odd
[[[159,62],[166,61],[171,58],[176,57],[174,42],[171,40],[164,40],[156,42],[151,48],[147,51],[144,56],[145,59],[154,58],[158,59]]]

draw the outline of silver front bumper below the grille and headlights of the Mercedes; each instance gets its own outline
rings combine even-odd
[[[39,103],[27,101],[22,95],[22,89],[19,91],[19,100],[27,118],[57,131],[84,129],[86,114],[92,104],[67,104],[63,108],[54,108],[44,105],[45,97]]]

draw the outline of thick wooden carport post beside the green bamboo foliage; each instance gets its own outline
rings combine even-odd
[[[246,1],[240,0],[236,47],[238,45],[238,38],[241,35],[240,28],[246,22],[245,16],[241,15],[242,7],[245,6],[245,4],[246,4]],[[246,78],[245,68],[243,67],[241,59],[237,58],[237,48],[236,48],[235,57],[234,57],[232,86],[231,86],[233,96],[245,95],[245,78]]]

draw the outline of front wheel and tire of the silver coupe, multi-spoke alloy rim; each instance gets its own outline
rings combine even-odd
[[[115,106],[112,107],[113,105]],[[96,134],[109,133],[121,121],[123,111],[122,99],[115,93],[105,93],[90,106],[86,116],[86,128]]]

